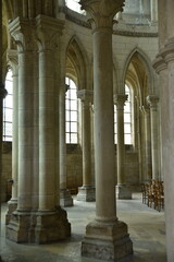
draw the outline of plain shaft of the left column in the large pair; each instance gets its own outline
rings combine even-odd
[[[18,211],[32,209],[33,95],[32,52],[18,53]]]

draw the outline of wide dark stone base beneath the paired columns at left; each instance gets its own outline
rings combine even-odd
[[[14,211],[7,226],[7,238],[18,243],[48,243],[70,236],[71,224],[61,207],[53,212]]]

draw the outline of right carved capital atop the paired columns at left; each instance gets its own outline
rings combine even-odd
[[[36,38],[39,50],[54,49],[64,28],[64,21],[46,15],[36,17]]]

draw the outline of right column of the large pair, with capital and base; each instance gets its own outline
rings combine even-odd
[[[36,242],[45,243],[71,235],[66,212],[58,203],[55,159],[55,83],[54,50],[63,22],[49,16],[36,17],[39,46],[39,206],[36,222]]]

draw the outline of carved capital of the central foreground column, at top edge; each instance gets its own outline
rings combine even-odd
[[[94,29],[112,28],[114,15],[123,11],[124,0],[80,0],[82,9],[91,16]]]

